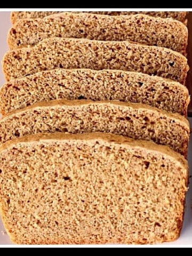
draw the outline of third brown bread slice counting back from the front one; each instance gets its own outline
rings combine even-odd
[[[56,99],[121,100],[145,103],[187,115],[186,86],[158,76],[92,69],[53,69],[5,83],[0,88],[3,115],[40,101]]]

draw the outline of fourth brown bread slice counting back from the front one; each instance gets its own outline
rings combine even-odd
[[[158,75],[185,83],[187,59],[156,46],[77,38],[44,39],[31,48],[9,51],[3,59],[6,79],[54,68],[122,69]]]

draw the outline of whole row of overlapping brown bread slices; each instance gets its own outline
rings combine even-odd
[[[177,239],[188,186],[186,12],[11,20],[0,211],[12,242]]]

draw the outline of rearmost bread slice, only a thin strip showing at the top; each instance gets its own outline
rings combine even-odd
[[[48,15],[58,14],[61,12],[11,12],[11,22],[15,23],[17,20],[26,19],[26,18],[44,18]],[[76,12],[78,13],[78,12]],[[106,11],[99,11],[99,12],[86,12],[86,13],[95,13],[95,14],[108,14],[108,15],[131,15],[131,14],[147,14],[154,17],[161,17],[161,18],[173,18],[179,20],[181,22],[185,22],[187,12],[106,12]]]

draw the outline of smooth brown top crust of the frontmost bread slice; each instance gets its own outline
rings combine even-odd
[[[32,134],[23,136],[20,138],[16,138],[10,141],[6,141],[0,146],[0,153],[4,150],[7,150],[9,148],[12,148],[14,146],[21,145],[22,143],[35,143],[35,142],[49,142],[50,140],[84,140],[89,143],[89,140],[95,140],[95,141],[108,141],[110,143],[117,143],[117,144],[123,144],[124,146],[131,146],[131,147],[138,147],[143,148],[144,150],[150,150],[153,152],[158,152],[159,154],[165,154],[168,157],[174,158],[173,161],[177,161],[179,165],[182,166],[182,168],[185,168],[188,170],[188,163],[185,157],[181,156],[179,153],[171,150],[167,146],[163,145],[157,145],[154,142],[150,141],[143,141],[143,140],[134,140],[131,138],[125,138],[121,135],[115,135],[111,133],[82,133],[82,134],[69,134],[69,133],[38,133],[38,134]]]

